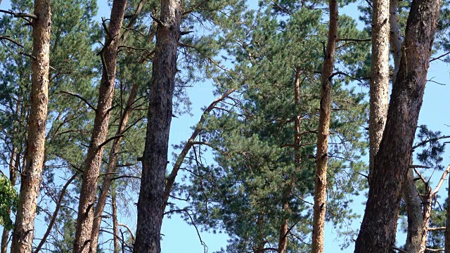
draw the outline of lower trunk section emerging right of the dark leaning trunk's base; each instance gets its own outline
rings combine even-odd
[[[409,169],[403,185],[406,214],[408,216],[408,229],[406,233],[406,252],[419,252],[422,239],[422,200],[418,195],[413,170]]]

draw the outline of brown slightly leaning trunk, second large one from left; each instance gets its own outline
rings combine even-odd
[[[98,105],[91,143],[83,165],[84,173],[79,195],[74,253],[96,252],[96,248],[91,247],[94,204],[96,200],[98,175],[103,157],[103,143],[106,141],[106,135],[108,134],[110,108],[113,104],[117,47],[119,46],[120,30],[122,28],[126,7],[127,0],[113,1],[108,35],[105,39],[105,48],[100,52],[103,72],[98,91]]]

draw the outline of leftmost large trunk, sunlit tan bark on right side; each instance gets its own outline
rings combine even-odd
[[[32,89],[28,119],[27,161],[22,171],[18,212],[11,253],[32,251],[34,218],[44,166],[47,103],[49,100],[50,1],[35,0],[33,23]]]

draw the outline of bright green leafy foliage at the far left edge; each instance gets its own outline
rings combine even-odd
[[[11,230],[11,210],[15,212],[18,207],[19,196],[6,176],[0,174],[0,225]]]

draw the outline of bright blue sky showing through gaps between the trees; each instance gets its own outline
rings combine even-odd
[[[249,1],[250,2],[250,1]],[[252,1],[251,1],[252,2]],[[99,13],[98,20],[100,17],[109,17],[110,9],[106,4],[107,1],[98,1],[99,4]],[[253,2],[252,4],[254,4]],[[340,13],[345,13],[347,15],[351,15],[355,19],[359,16],[359,11],[356,8],[357,4],[353,4],[348,6],[342,10]],[[10,6],[9,0],[3,0],[0,4],[1,9],[8,9]],[[361,25],[362,26],[362,25]],[[430,65],[430,71],[428,73],[428,79],[433,78],[434,81],[440,83],[448,83],[446,86],[442,86],[439,84],[435,84],[433,82],[429,82],[427,88],[425,90],[425,96],[423,99],[423,108],[420,112],[419,124],[427,124],[432,130],[441,130],[443,134],[450,134],[450,82],[449,82],[449,66],[442,61],[436,60],[432,62]],[[150,77],[148,77],[150,78]],[[181,141],[186,141],[188,137],[191,135],[191,127],[198,122],[200,119],[200,115],[202,114],[201,108],[206,105],[209,105],[212,100],[214,100],[214,96],[212,94],[214,88],[210,82],[198,83],[193,86],[193,88],[188,89],[188,95],[191,98],[192,102],[192,116],[191,115],[182,115],[179,118],[172,119],[172,129],[169,139],[169,144],[179,144]],[[172,152],[174,150],[169,150],[169,155],[172,156]],[[444,166],[450,163],[449,152],[447,151],[444,155]],[[169,158],[169,161],[172,161],[172,158]],[[170,165],[169,165],[170,166]],[[3,169],[2,169],[3,171]],[[432,171],[429,171],[427,174],[431,174]],[[432,176],[432,182],[437,182],[439,177],[441,176],[441,172],[437,172]],[[179,177],[180,178],[180,177]],[[441,195],[446,194],[446,186],[447,182],[444,183],[444,187],[441,190]],[[364,195],[360,195],[354,201],[353,209],[359,214],[364,213]],[[131,211],[129,216],[120,217],[121,223],[127,223],[131,226],[132,229],[136,228],[136,210]],[[360,221],[354,221],[354,228],[359,227]],[[41,233],[43,233],[46,229],[44,223],[41,221],[37,221],[36,230],[37,237]],[[172,253],[172,252],[186,252],[186,253],[199,253],[203,252],[203,246],[200,244],[200,240],[198,239],[198,235],[193,226],[189,226],[185,221],[183,221],[179,216],[174,215],[172,219],[164,219],[162,225],[162,252],[163,253]],[[224,234],[212,234],[212,233],[200,233],[203,241],[208,247],[208,252],[214,252],[221,247],[226,247],[226,240],[228,237]],[[404,242],[404,235],[401,233],[397,234],[397,241],[399,244]],[[340,240],[337,238],[335,231],[333,231],[333,227],[330,224],[326,225],[326,237],[325,237],[325,252],[332,253],[339,251]],[[344,252],[353,252],[353,246],[351,245]]]

